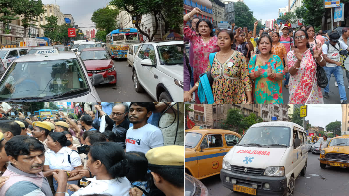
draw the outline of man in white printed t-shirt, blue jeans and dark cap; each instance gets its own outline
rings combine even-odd
[[[341,103],[347,103],[347,95],[346,88],[343,82],[343,69],[341,68],[342,63],[340,62],[340,53],[341,50],[349,51],[349,47],[339,41],[339,33],[333,32],[329,35],[329,42],[326,42],[322,45],[322,52],[324,53],[324,59],[326,61],[326,66],[324,67],[327,75],[328,84],[324,89],[325,95],[324,98],[328,98],[329,92],[329,81],[331,78],[331,74],[336,78],[336,82],[338,84],[339,96],[341,98]]]

